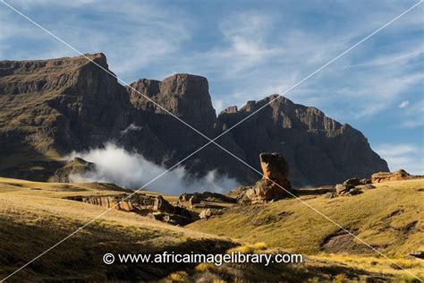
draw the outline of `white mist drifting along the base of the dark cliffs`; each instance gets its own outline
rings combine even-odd
[[[68,158],[74,157],[95,163],[96,171],[72,174],[71,182],[110,182],[129,188],[145,186],[145,190],[174,194],[200,191],[225,193],[239,185],[233,178],[218,176],[216,171],[196,178],[188,175],[184,167],[175,167],[164,174],[166,167],[150,162],[140,154],[128,152],[114,143],[107,143],[104,148],[72,152]]]

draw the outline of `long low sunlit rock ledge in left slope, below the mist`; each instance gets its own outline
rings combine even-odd
[[[152,196],[144,193],[135,193],[131,197],[128,197],[128,194],[118,194],[72,197],[71,199],[114,208],[115,210],[135,212],[173,225],[186,225],[195,219],[188,210],[173,206],[161,195]]]

